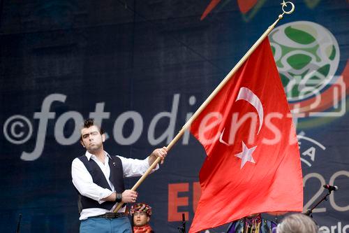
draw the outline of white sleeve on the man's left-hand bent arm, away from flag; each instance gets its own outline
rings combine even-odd
[[[84,164],[78,158],[75,158],[71,164],[71,176],[73,185],[77,191],[79,191],[82,196],[98,201],[99,204],[105,202],[101,199],[112,194],[112,190],[102,188],[94,183],[89,171],[87,171]]]

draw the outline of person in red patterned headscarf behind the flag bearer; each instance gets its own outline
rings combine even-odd
[[[151,207],[145,203],[137,203],[130,210],[134,233],[154,233],[149,225]]]

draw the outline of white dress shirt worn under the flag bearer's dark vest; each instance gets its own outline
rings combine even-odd
[[[110,176],[110,167],[109,167],[109,158],[110,155],[106,152],[105,153],[105,162],[101,162],[98,160],[98,158],[95,155],[92,155],[89,152],[85,153],[85,156],[87,157],[87,160],[94,160],[98,164],[98,166],[103,171],[103,174],[110,186],[109,188],[102,188],[99,185],[96,185],[94,183],[91,174],[89,174],[89,171],[87,171],[87,168],[84,166],[84,164],[79,160],[78,158],[75,158],[71,164],[71,176],[73,178],[73,185],[75,188],[80,192],[81,195],[85,197],[89,197],[91,199],[94,199],[98,201],[99,204],[102,204],[102,199],[105,197],[108,197],[112,194],[112,192],[115,191],[114,185],[109,180]],[[129,159],[126,157],[117,156],[120,158],[122,163],[122,169],[124,173],[124,177],[133,177],[133,176],[142,176],[147,169],[149,169],[149,162],[148,157],[144,160],[135,160],[135,159]],[[156,165],[156,168],[158,169],[158,164]],[[89,208],[89,209],[83,209],[80,213],[80,220],[87,219],[89,217],[93,216],[99,216],[101,214],[105,214],[107,212],[112,212],[115,209],[115,204],[112,209],[100,209],[100,208]],[[125,212],[126,207],[123,207],[119,209],[118,212]]]

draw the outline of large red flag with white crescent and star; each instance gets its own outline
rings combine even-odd
[[[302,211],[302,167],[268,38],[191,125],[207,157],[189,232],[253,213]]]

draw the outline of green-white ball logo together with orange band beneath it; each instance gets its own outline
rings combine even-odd
[[[298,117],[345,113],[345,83],[335,76],[339,45],[328,29],[314,22],[290,22],[276,27],[269,41],[292,113],[302,114]],[[328,108],[334,109],[325,112]]]

